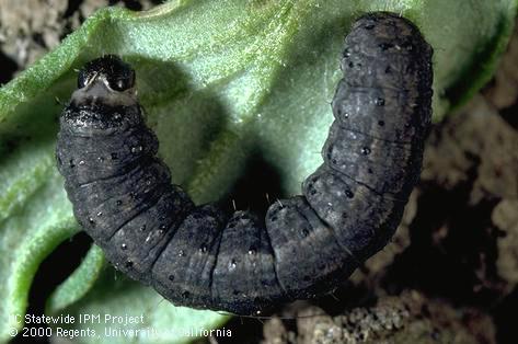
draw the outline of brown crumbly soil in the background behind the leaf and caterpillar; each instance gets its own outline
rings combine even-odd
[[[0,0],[0,83],[105,5]],[[518,343],[518,30],[494,79],[433,127],[398,233],[333,293],[210,343]],[[318,306],[316,306],[318,305]],[[219,341],[219,342],[218,342]]]

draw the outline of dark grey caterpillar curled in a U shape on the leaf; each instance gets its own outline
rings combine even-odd
[[[430,122],[430,59],[407,20],[359,19],[345,39],[324,163],[264,221],[196,206],[172,185],[133,69],[116,56],[90,61],[57,144],[74,215],[118,270],[179,306],[258,314],[329,293],[401,220]]]

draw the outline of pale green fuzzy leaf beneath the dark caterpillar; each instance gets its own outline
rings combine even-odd
[[[54,162],[62,108],[56,99],[70,96],[74,70],[89,59],[113,53],[136,68],[160,154],[196,202],[223,197],[252,158],[273,169],[290,195],[300,193],[301,181],[321,163],[332,122],[329,103],[342,77],[338,56],[355,18],[389,10],[421,27],[435,49],[438,121],[491,78],[516,5],[515,0],[177,0],[141,13],[96,12],[0,89],[0,342],[22,325],[12,316],[24,314],[39,263],[79,230]],[[47,311],[142,313],[148,325],[160,329],[209,329],[227,319],[159,303],[152,289],[115,280],[112,268],[101,266],[102,253],[92,249],[50,297]]]

